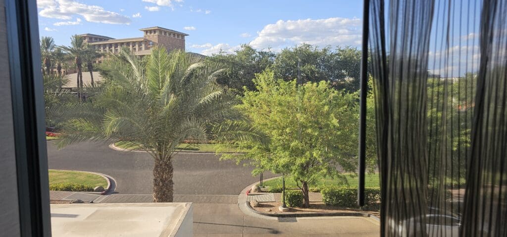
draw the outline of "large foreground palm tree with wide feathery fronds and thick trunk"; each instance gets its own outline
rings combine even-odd
[[[233,109],[236,97],[215,82],[222,65],[204,63],[198,55],[154,48],[143,65],[126,48],[105,60],[101,69],[108,83],[90,103],[67,111],[58,147],[84,141],[138,146],[155,161],[154,201],[171,202],[178,145],[206,141],[211,128],[240,118]]]

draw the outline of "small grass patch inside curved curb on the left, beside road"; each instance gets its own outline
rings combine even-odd
[[[58,183],[75,183],[107,188],[107,181],[99,175],[79,171],[49,170],[49,185]]]

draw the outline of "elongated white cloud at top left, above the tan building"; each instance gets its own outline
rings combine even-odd
[[[106,24],[130,24],[130,18],[116,12],[106,11],[95,5],[86,5],[71,0],[38,0],[42,8],[39,15],[47,18],[70,20],[80,15],[86,21]]]

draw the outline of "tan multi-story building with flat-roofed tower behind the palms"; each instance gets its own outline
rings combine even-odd
[[[84,37],[85,42],[101,53],[119,53],[121,48],[127,47],[136,55],[148,55],[154,46],[165,47],[168,51],[174,49],[185,50],[186,33],[176,30],[162,28],[159,26],[139,29],[144,33],[143,37],[114,39],[106,36],[85,33],[79,35]],[[102,62],[103,57],[97,59]]]

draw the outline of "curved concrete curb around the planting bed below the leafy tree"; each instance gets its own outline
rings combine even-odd
[[[268,180],[272,180],[272,179],[276,179],[276,178],[279,178],[279,177],[273,177],[273,178],[270,178],[270,179],[265,179],[263,181],[268,181]],[[376,221],[379,221],[380,222],[380,219],[370,213],[365,213],[365,212],[349,212],[349,213],[287,213],[287,214],[278,214],[278,213],[263,213],[263,212],[259,212],[255,209],[253,209],[252,207],[250,207],[250,204],[248,203],[248,201],[246,200],[247,199],[247,195],[246,195],[246,192],[248,190],[250,190],[251,186],[253,185],[256,185],[256,184],[259,184],[260,182],[255,182],[253,184],[250,184],[249,186],[247,186],[246,188],[244,188],[241,193],[239,193],[238,195],[238,206],[239,206],[239,209],[241,210],[241,212],[243,212],[243,214],[245,215],[248,215],[248,216],[251,216],[251,217],[256,217],[256,218],[261,218],[261,219],[267,219],[267,220],[278,220],[278,217],[284,217],[284,216],[291,216],[291,217],[305,217],[305,218],[310,218],[310,219],[321,219],[321,218],[329,218],[329,217],[336,217],[336,218],[340,218],[340,217],[370,217],[372,218],[373,220],[376,220]]]

